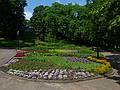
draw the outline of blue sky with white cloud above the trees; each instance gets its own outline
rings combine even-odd
[[[32,17],[33,9],[39,5],[47,5],[50,6],[54,2],[59,2],[62,4],[67,3],[77,3],[80,5],[85,5],[86,0],[27,0],[27,6],[25,7],[25,17],[26,19],[30,19]]]

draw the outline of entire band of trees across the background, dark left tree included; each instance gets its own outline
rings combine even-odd
[[[59,40],[87,46],[117,48],[120,46],[119,0],[86,0],[87,4],[38,6],[32,18],[25,20],[26,0],[0,0],[0,37]],[[31,41],[32,42],[32,41]],[[1,44],[2,45],[2,44]]]

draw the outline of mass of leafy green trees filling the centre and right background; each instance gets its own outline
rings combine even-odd
[[[87,5],[38,6],[31,24],[42,41],[67,40],[102,48],[120,46],[119,0],[86,0]]]

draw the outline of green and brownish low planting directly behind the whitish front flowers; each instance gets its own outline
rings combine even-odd
[[[87,71],[92,71],[97,67],[100,67],[99,63],[80,63],[80,62],[71,62],[64,60],[60,56],[38,56],[38,57],[25,57],[23,60],[11,64],[9,68],[18,69],[18,70],[39,70],[39,69],[74,69],[80,70],[84,69]]]

